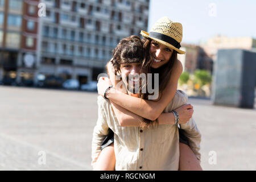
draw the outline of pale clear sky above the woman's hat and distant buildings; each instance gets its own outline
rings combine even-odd
[[[214,35],[256,39],[255,0],[150,0],[148,32],[162,16],[183,25],[183,43]]]

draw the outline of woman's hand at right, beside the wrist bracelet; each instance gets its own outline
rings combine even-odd
[[[176,109],[176,112],[179,114],[179,123],[185,124],[192,117],[194,110],[191,104],[186,104]]]

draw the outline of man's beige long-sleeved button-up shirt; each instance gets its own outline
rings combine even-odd
[[[164,112],[170,112],[184,104],[188,97],[177,90],[174,99]],[[101,151],[101,143],[109,133],[114,132],[115,170],[177,170],[179,168],[179,131],[176,125],[158,125],[150,129],[121,127],[115,117],[109,100],[98,96],[98,120],[93,130],[92,166]],[[200,160],[201,134],[195,121],[181,125],[189,144]]]

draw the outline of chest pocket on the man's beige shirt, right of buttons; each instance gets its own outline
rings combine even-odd
[[[173,135],[172,125],[158,125],[151,130],[151,143],[165,143],[170,141],[170,137]]]

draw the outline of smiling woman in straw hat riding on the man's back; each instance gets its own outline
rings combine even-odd
[[[157,101],[145,100],[142,98],[131,97],[114,88],[110,88],[106,97],[109,98],[112,105],[115,107],[115,114],[121,126],[141,126],[138,119],[150,123],[159,117],[168,117],[169,124],[174,124],[175,117],[172,113],[165,116],[160,115],[168,103],[174,98],[177,89],[177,81],[183,71],[182,65],[177,60],[177,53],[185,53],[181,51],[180,42],[182,39],[182,26],[180,23],[171,22],[167,17],[158,20],[152,27],[150,34],[142,31],[144,36],[144,48],[150,49],[152,56],[152,63],[150,67],[143,65],[148,73],[159,73],[159,98]],[[114,64],[114,61],[112,60]],[[108,64],[109,77],[114,87],[118,84],[115,79],[114,71],[112,71],[112,64]],[[147,70],[148,68],[148,70]],[[98,82],[98,93],[102,96],[106,88],[110,85],[107,78],[100,79]],[[125,108],[125,109],[124,109]],[[177,109],[181,120],[186,118],[189,114],[192,115],[192,106]],[[127,110],[126,110],[127,109]],[[119,110],[119,111],[118,111]],[[126,113],[126,118],[122,117]],[[128,113],[128,114],[127,114]],[[130,114],[130,115],[129,115]],[[127,117],[127,115],[129,115]],[[143,119],[145,118],[145,119]],[[186,118],[188,121],[188,118]],[[184,121],[182,121],[185,123]],[[167,123],[159,123],[167,124]],[[200,142],[200,141],[199,141]],[[201,170],[200,163],[193,154],[191,148],[186,142],[180,142],[180,170]],[[113,144],[105,147],[98,158],[98,169],[113,169],[115,163],[115,156],[113,151]],[[105,165],[105,166],[104,166]],[[105,167],[105,168],[104,168]]]

